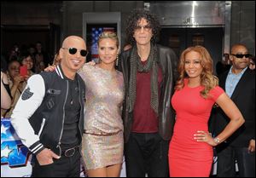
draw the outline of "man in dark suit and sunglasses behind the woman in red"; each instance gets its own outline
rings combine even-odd
[[[245,45],[235,44],[230,53],[232,66],[219,76],[219,86],[235,102],[245,123],[216,147],[218,177],[236,177],[236,160],[240,177],[255,177],[255,71],[247,67],[249,57]],[[219,107],[213,117],[213,132],[218,135],[230,119]]]

